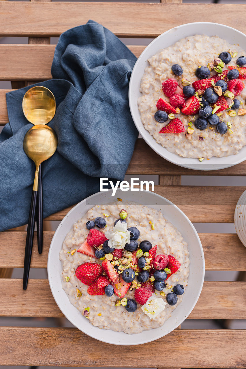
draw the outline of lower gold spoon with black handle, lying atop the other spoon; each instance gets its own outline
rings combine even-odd
[[[33,250],[33,236],[35,224],[35,211],[38,190],[38,170],[40,164],[49,159],[57,149],[57,135],[48,125],[35,125],[25,134],[23,148],[27,156],[32,159],[36,166],[33,184],[33,194],[31,199],[30,213],[27,226],[27,239],[25,243],[23,289],[27,289],[28,276],[31,264],[31,254]]]

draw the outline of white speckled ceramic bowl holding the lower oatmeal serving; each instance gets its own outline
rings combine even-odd
[[[100,341],[116,345],[138,345],[160,338],[178,327],[191,313],[198,297],[201,293],[204,281],[204,253],[197,231],[187,216],[174,204],[164,197],[153,192],[116,192],[111,196],[112,191],[98,192],[93,196],[81,201],[72,208],[71,211],[59,224],[57,231],[51,241],[48,255],[48,279],[54,299],[62,313],[71,321],[75,327],[89,336]],[[59,252],[66,234],[71,230],[72,225],[78,221],[95,204],[105,204],[116,201],[117,197],[123,201],[136,201],[149,207],[160,210],[164,217],[177,227],[184,240],[188,243],[190,254],[190,272],[188,286],[181,304],[172,311],[172,315],[160,328],[150,331],[143,331],[140,334],[129,335],[124,332],[114,332],[111,330],[99,329],[85,319],[81,313],[69,302],[68,296],[62,289],[61,272],[62,265],[59,261]]]

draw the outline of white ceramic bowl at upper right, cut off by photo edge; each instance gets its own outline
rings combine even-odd
[[[179,41],[181,38],[196,34],[205,34],[207,36],[217,35],[222,39],[226,39],[230,44],[239,44],[244,50],[246,50],[246,35],[235,30],[235,28],[231,28],[223,24],[207,22],[188,23],[164,32],[154,39],[146,49],[144,49],[134,65],[129,84],[129,105],[131,115],[144,141],[146,141],[147,144],[157,152],[157,154],[171,163],[195,170],[217,170],[228,168],[246,159],[246,146],[243,147],[237,155],[230,155],[224,158],[216,158],[213,156],[209,161],[204,160],[202,162],[198,162],[198,159],[195,158],[182,158],[177,154],[169,152],[166,148],[161,146],[161,144],[156,142],[153,136],[151,136],[144,128],[143,123],[141,122],[139,108],[137,106],[137,99],[141,96],[139,91],[141,77],[143,76],[144,69],[149,65],[147,59],[157,54],[161,49],[175,44],[175,42]],[[204,52],[206,52],[206,50]]]

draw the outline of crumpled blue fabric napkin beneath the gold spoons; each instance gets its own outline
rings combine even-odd
[[[59,38],[53,79],[36,84],[48,87],[57,103],[48,125],[57,132],[58,148],[42,163],[44,217],[98,192],[99,177],[123,180],[138,135],[128,103],[135,62],[94,21]],[[28,221],[35,166],[23,139],[33,125],[24,117],[22,99],[29,88],[6,94],[10,122],[0,134],[0,231]]]

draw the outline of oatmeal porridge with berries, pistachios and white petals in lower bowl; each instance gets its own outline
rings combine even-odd
[[[128,334],[160,327],[182,303],[188,245],[163,214],[139,203],[94,206],[62,244],[62,287],[93,325]]]

